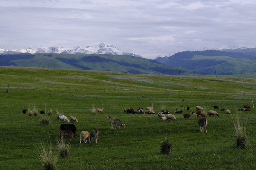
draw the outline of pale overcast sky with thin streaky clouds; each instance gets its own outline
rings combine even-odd
[[[0,48],[114,45],[144,58],[256,47],[256,0],[0,0]]]

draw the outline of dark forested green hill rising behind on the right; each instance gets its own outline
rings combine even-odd
[[[255,75],[256,54],[233,51],[183,51],[164,61],[155,59],[167,66],[178,66],[197,71],[200,74],[215,75]]]

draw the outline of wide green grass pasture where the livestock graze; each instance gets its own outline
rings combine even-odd
[[[9,87],[9,88],[8,88]],[[8,93],[7,93],[8,92]],[[135,75],[115,72],[0,67],[0,169],[44,169],[37,157],[38,140],[58,153],[60,124],[56,110],[75,116],[78,138],[71,140],[59,170],[253,170],[256,162],[256,79],[243,77],[196,77]],[[153,103],[156,114],[127,114],[123,108],[146,108]],[[250,111],[238,111],[244,104]],[[208,118],[208,132],[201,133],[196,116],[162,121],[161,107],[172,114],[196,111],[196,106],[217,110]],[[20,114],[36,106],[37,116]],[[90,109],[104,108],[91,114]],[[186,110],[189,106],[191,109]],[[42,125],[40,110],[53,110],[50,124]],[[232,117],[238,113],[247,127],[250,147],[236,148]],[[120,119],[125,128],[110,130],[110,120]],[[83,130],[99,130],[98,143],[80,144]],[[163,138],[171,138],[170,155],[159,154]],[[67,139],[69,141],[69,139]]]

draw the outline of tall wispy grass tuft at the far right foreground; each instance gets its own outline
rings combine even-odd
[[[237,148],[249,148],[250,144],[248,142],[249,140],[249,132],[246,130],[247,123],[243,123],[241,119],[239,119],[239,115],[236,112],[236,117],[232,120],[235,127],[235,135],[236,135],[236,144]]]

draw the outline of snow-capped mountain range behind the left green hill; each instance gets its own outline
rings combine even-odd
[[[16,49],[16,50],[4,50],[0,48],[0,54],[18,54],[18,53],[57,53],[57,54],[111,54],[111,55],[133,55],[136,57],[141,57],[138,55],[135,55],[133,53],[127,53],[120,51],[115,46],[111,45],[105,45],[104,43],[101,43],[97,46],[84,46],[80,45],[78,47],[70,47],[70,48],[64,48],[64,47],[40,47],[37,50],[36,49]]]

